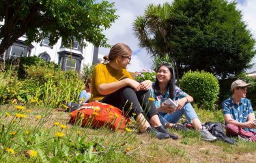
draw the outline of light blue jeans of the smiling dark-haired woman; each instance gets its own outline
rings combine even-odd
[[[186,120],[188,122],[191,122],[195,118],[198,118],[197,113],[195,113],[194,108],[190,103],[185,103],[185,105],[180,110],[176,110],[175,112],[169,114],[169,113],[162,113],[159,112],[159,119],[162,125],[166,125],[167,122],[171,124],[176,124],[182,115],[186,116]]]

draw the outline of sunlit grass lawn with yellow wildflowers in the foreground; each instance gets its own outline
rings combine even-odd
[[[134,122],[131,132],[113,132],[71,126],[69,113],[56,109],[0,109],[0,162],[255,162],[256,158],[256,143],[209,143],[201,141],[195,130],[170,130],[180,139],[158,140],[139,134]],[[197,113],[202,122],[221,120],[220,111],[197,109]]]

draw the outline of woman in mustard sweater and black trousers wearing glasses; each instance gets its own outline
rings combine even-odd
[[[124,109],[130,116],[134,115],[141,132],[153,132],[158,139],[177,139],[177,135],[171,134],[162,126],[154,101],[149,100],[152,82],[139,83],[126,70],[131,56],[132,50],[124,43],[117,43],[111,48],[109,56],[105,58],[109,62],[98,64],[94,68],[92,100],[108,103]]]

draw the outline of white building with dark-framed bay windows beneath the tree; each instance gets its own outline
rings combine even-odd
[[[98,63],[98,48],[92,43],[87,43],[85,48],[81,48],[78,41],[74,41],[72,49],[65,48],[61,39],[54,46],[48,46],[48,38],[44,38],[40,43],[31,43],[25,45],[26,36],[20,37],[8,50],[6,50],[3,59],[16,58],[18,56],[39,56],[46,61],[53,61],[61,65],[61,69],[75,69],[81,71],[84,65]]]

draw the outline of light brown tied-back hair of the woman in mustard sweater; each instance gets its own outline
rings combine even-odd
[[[127,46],[124,43],[117,43],[114,46],[112,46],[109,56],[104,56],[104,62],[107,62],[109,60],[114,60],[118,56],[129,56],[132,53],[132,50],[129,46]]]

